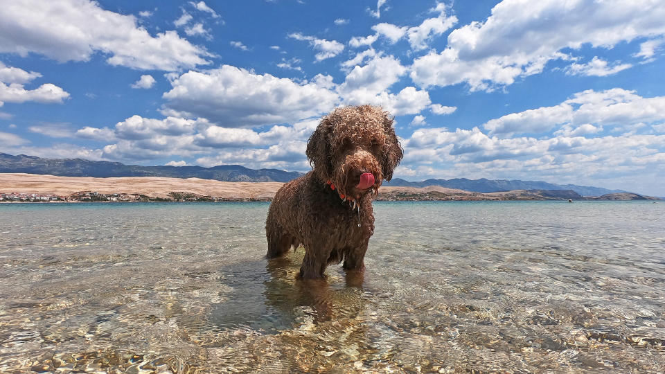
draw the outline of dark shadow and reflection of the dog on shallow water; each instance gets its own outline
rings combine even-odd
[[[219,328],[251,328],[267,333],[290,330],[305,321],[355,319],[363,310],[362,273],[331,273],[327,279],[301,279],[303,251],[268,262],[236,262],[220,269],[222,303],[209,319]]]

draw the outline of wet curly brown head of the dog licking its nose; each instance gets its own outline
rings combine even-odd
[[[321,119],[307,143],[307,158],[322,182],[340,196],[359,199],[393,177],[402,147],[393,118],[381,107],[342,107]]]

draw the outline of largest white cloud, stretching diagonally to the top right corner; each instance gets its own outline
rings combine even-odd
[[[529,6],[504,0],[486,21],[453,30],[440,53],[418,57],[411,79],[421,87],[465,82],[472,91],[492,90],[540,73],[551,60],[569,58],[561,52],[565,48],[611,48],[664,35],[664,17],[665,7],[650,0],[543,0]]]

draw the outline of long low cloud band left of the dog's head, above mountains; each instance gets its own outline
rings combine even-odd
[[[136,162],[199,157],[197,163],[207,166],[242,163],[250,167],[305,170],[305,143],[318,123],[319,118],[314,118],[256,132],[221,127],[201,118],[132,116],[112,128],[83,127],[74,136],[109,143],[99,150],[104,159]]]

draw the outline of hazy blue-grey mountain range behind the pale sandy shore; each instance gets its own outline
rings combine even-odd
[[[0,172],[24,172],[61,177],[171,177],[201,178],[218,181],[279,181],[285,182],[302,175],[277,169],[254,170],[240,165],[220,165],[212,168],[201,166],[138,166],[109,161],[84,159],[42,159],[35,156],[0,153]],[[394,178],[384,186],[427,187],[441,186],[479,193],[507,190],[574,190],[582,196],[601,196],[609,193],[626,193],[623,190],[608,190],[574,184],[551,184],[545,181],[491,180],[491,179],[427,179],[405,181]]]

